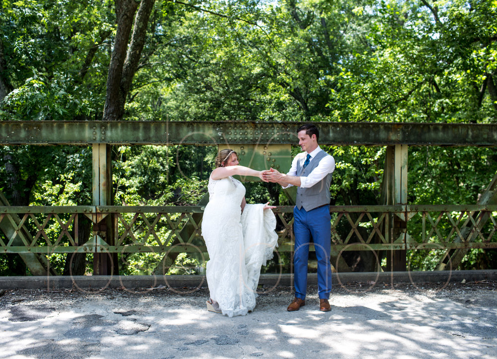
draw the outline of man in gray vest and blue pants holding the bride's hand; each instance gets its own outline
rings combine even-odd
[[[263,178],[279,183],[283,188],[298,186],[293,210],[295,298],[287,310],[299,310],[305,305],[307,262],[312,237],[318,258],[319,307],[321,311],[327,312],[330,310],[328,299],[331,291],[330,183],[335,160],[320,148],[319,130],[315,125],[299,127],[297,135],[303,152],[295,156],[290,171],[283,174],[271,168],[263,172]]]

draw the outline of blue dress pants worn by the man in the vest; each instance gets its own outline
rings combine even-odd
[[[307,212],[302,207],[293,210],[295,249],[293,254],[295,296],[305,299],[307,290],[307,262],[311,238],[318,259],[318,295],[329,299],[331,291],[331,215],[330,206],[318,207]]]

